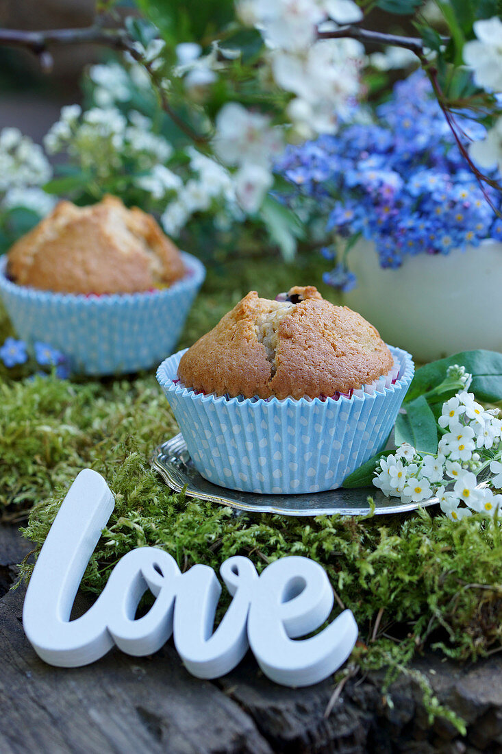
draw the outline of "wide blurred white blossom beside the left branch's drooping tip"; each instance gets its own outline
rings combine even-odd
[[[268,167],[283,149],[277,128],[267,115],[226,103],[216,115],[215,152],[227,165],[250,163]]]

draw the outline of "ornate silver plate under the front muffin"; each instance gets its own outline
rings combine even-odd
[[[237,510],[254,513],[281,513],[284,516],[364,516],[370,512],[368,498],[375,501],[375,514],[406,513],[418,507],[438,502],[430,498],[421,503],[402,503],[398,498],[387,498],[376,487],[358,489],[330,489],[327,492],[306,495],[257,495],[255,492],[238,492],[219,487],[201,477],[186,448],[182,434],[162,443],[151,458],[152,467],[175,492],[185,489],[186,495],[199,500],[229,505]]]

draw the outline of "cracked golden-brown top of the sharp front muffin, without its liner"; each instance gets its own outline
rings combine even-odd
[[[179,379],[205,393],[311,398],[347,393],[387,374],[393,358],[375,327],[313,286],[283,300],[251,291],[179,362]]]

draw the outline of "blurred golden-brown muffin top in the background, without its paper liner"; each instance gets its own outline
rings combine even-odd
[[[152,217],[115,196],[61,201],[8,252],[15,283],[60,293],[135,293],[185,274],[179,250]]]

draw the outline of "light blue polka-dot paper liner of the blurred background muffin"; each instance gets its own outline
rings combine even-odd
[[[17,335],[48,343],[68,358],[72,372],[115,375],[151,369],[176,348],[188,311],[206,274],[182,253],[186,274],[169,288],[145,293],[82,296],[13,283],[0,259],[0,296]]]

